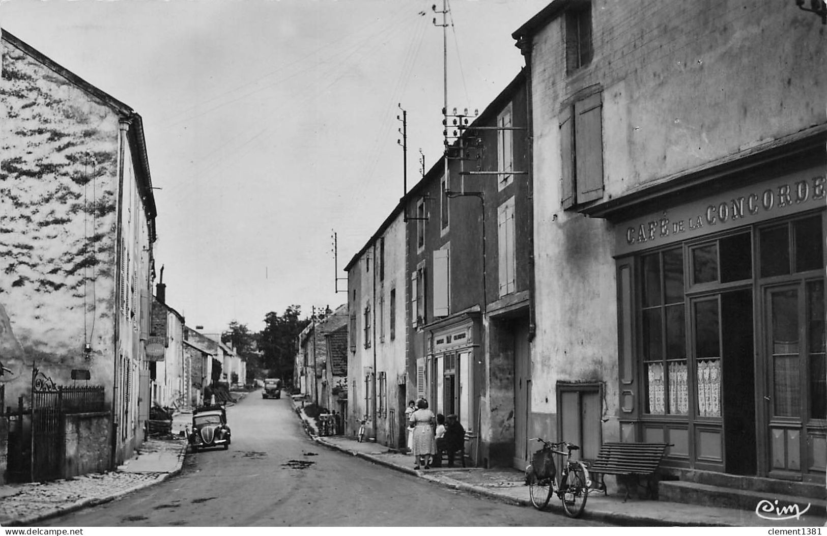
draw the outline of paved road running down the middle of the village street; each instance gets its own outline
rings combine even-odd
[[[191,454],[175,478],[39,526],[605,526],[329,450],[307,437],[289,400],[251,393],[227,409],[227,421],[228,451]]]

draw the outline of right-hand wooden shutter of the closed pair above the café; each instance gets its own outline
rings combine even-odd
[[[603,197],[601,98],[601,93],[595,93],[574,105],[577,203]]]

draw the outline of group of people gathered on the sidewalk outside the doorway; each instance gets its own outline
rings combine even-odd
[[[457,415],[434,415],[428,409],[428,400],[411,400],[405,409],[408,421],[408,452],[414,454],[414,469],[430,469],[433,463],[442,463],[442,454],[448,458],[448,467],[454,467],[454,457],[465,445],[465,428]]]

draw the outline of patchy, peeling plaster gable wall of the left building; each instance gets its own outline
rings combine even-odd
[[[8,400],[31,367],[58,384],[91,371],[112,393],[118,117],[2,41],[0,354]],[[146,243],[146,242],[145,242]],[[84,358],[84,342],[92,352]]]

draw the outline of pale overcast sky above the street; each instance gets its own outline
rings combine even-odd
[[[448,3],[449,109],[481,111],[514,79],[511,33],[548,2]],[[426,170],[441,156],[432,6],[0,0],[0,26],[141,114],[166,303],[204,333],[255,332],[347,302],[336,279],[403,195],[402,109],[409,189],[420,151]]]

